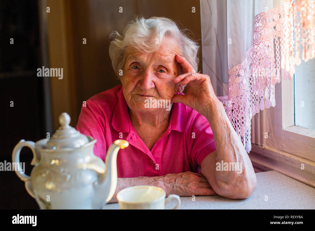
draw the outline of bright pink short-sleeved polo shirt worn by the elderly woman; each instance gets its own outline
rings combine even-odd
[[[76,129],[97,140],[94,154],[103,161],[115,140],[129,142],[118,151],[118,177],[198,173],[202,160],[216,150],[209,122],[182,103],[173,103],[171,113],[168,129],[150,151],[131,124],[122,85],[118,85],[86,101]]]

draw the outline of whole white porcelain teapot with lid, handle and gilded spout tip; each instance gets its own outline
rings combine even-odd
[[[93,153],[96,140],[69,126],[67,113],[59,116],[59,123],[51,139],[20,140],[12,152],[14,171],[41,209],[100,209],[115,193],[117,153],[129,143],[114,141],[104,163]],[[24,146],[33,152],[30,176],[17,171]]]

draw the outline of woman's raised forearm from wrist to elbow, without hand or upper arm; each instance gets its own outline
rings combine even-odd
[[[206,118],[212,129],[217,150],[215,161],[219,169],[213,171],[216,182],[226,191],[240,191],[245,196],[250,195],[256,188],[256,176],[249,156],[222,103],[215,101],[211,105]]]

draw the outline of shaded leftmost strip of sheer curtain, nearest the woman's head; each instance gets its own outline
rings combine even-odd
[[[226,0],[200,1],[203,73],[211,78],[216,96],[228,95]]]

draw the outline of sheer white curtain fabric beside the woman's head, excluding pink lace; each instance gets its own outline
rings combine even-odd
[[[228,95],[228,70],[245,59],[253,45],[255,15],[283,0],[200,0],[203,73],[217,96]]]

